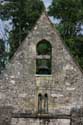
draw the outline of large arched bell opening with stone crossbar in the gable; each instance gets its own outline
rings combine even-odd
[[[51,74],[52,47],[51,44],[42,40],[37,44],[36,74]]]

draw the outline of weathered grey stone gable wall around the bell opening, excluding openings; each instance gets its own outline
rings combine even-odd
[[[36,45],[42,39],[52,44],[50,76],[35,74]],[[44,14],[0,77],[0,105],[15,111],[36,112],[39,92],[48,93],[50,113],[68,113],[83,104],[83,75]]]

